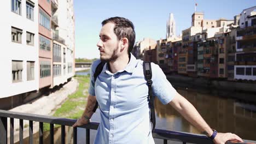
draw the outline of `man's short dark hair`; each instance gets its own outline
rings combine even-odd
[[[128,53],[132,51],[133,45],[135,43],[135,31],[133,23],[125,19],[124,17],[110,17],[102,21],[102,26],[106,25],[107,23],[112,22],[115,24],[114,26],[114,33],[117,35],[118,40],[122,38],[127,38],[129,41],[128,45]]]

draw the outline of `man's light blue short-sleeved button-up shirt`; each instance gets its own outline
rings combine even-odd
[[[89,87],[89,94],[96,95],[101,115],[95,143],[154,143],[143,61],[131,54],[126,67],[114,74],[105,64],[94,82],[99,63],[100,60],[92,63]],[[168,104],[177,92],[154,63],[152,81],[153,94]]]

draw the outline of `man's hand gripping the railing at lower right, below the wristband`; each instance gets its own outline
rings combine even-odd
[[[213,142],[216,144],[224,144],[226,141],[243,142],[243,140],[239,136],[232,133],[218,133],[213,139]]]

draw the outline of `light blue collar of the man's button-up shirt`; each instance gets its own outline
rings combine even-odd
[[[136,67],[137,63],[138,61],[136,61],[135,56],[133,56],[132,53],[130,53],[129,63],[126,65],[126,67],[123,70],[119,70],[117,73],[121,73],[123,71],[127,71],[128,73],[133,73],[133,70]],[[101,71],[101,73],[105,73],[105,72],[111,74],[111,72],[109,71],[108,63],[104,64],[104,67]]]

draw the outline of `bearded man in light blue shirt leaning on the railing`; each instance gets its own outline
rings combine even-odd
[[[83,116],[73,125],[77,127],[90,122],[97,98],[101,123],[95,143],[154,143],[143,61],[130,53],[134,43],[135,31],[130,20],[111,17],[102,22],[97,47],[100,50],[101,61],[106,64],[96,82],[94,73],[100,61],[92,64],[88,103]],[[214,136],[213,130],[195,107],[172,87],[165,74],[154,63],[152,81],[153,94],[163,104],[172,105],[208,137]],[[213,139],[214,143],[225,143],[228,140],[242,141],[240,137],[231,133],[217,133]]]

